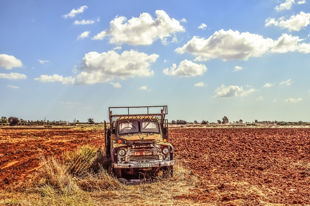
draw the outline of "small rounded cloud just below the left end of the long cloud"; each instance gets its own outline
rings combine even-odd
[[[184,61],[180,62],[177,69],[176,64],[173,64],[172,67],[170,67],[170,70],[169,68],[166,68],[163,70],[163,73],[166,75],[191,77],[203,75],[203,73],[206,71],[207,67],[204,64],[196,64],[185,59]]]

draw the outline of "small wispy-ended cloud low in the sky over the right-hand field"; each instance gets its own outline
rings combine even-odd
[[[239,86],[228,86],[225,87],[224,84],[222,84],[219,88],[216,88],[215,92],[216,95],[214,97],[245,97],[253,92],[255,92],[256,89],[251,88],[249,90],[244,91],[242,87]]]

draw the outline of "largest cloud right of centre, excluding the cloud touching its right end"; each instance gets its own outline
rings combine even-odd
[[[221,58],[247,60],[249,57],[262,56],[272,45],[272,39],[249,32],[224,31],[215,32],[208,39],[194,36],[183,47],[175,49],[179,54],[190,52],[207,59]]]

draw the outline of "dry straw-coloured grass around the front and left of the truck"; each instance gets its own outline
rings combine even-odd
[[[0,191],[0,205],[193,205],[193,201],[185,203],[174,196],[185,195],[200,184],[176,161],[173,177],[124,185],[107,173],[109,161],[104,151],[90,146],[64,154],[63,161],[55,157],[46,160],[43,155],[40,158],[41,172],[32,177],[36,181],[22,190],[15,187],[11,192]]]

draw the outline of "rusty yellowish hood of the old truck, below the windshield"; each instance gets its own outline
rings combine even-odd
[[[118,140],[126,144],[157,143],[162,141],[162,135],[153,133],[123,135]]]

